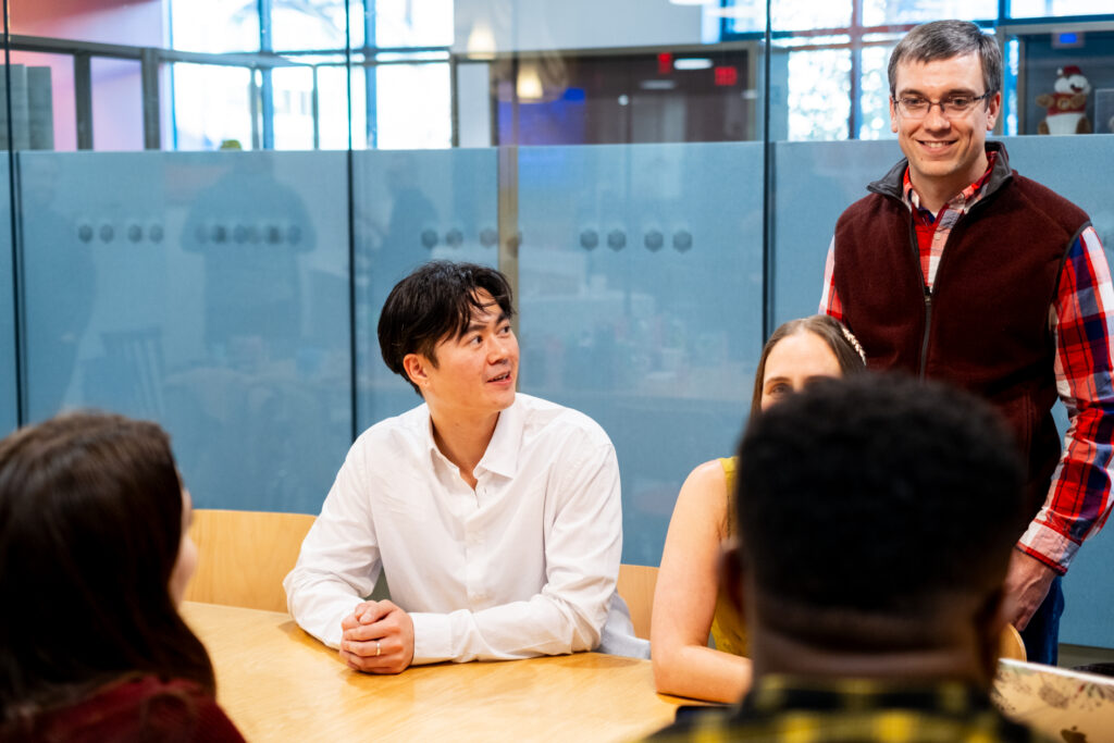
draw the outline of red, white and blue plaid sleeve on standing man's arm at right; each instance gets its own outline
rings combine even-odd
[[[1112,504],[1114,287],[1092,226],[1068,252],[1049,314],[1056,388],[1071,423],[1048,497],[1018,548],[1065,573],[1079,545],[1103,527]]]

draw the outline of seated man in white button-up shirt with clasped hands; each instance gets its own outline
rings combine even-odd
[[[588,417],[516,393],[511,313],[502,274],[443,261],[383,305],[383,360],[424,403],[352,446],[283,583],[299,625],[358,671],[648,655],[615,593],[615,450]],[[381,571],[393,600],[364,600]]]

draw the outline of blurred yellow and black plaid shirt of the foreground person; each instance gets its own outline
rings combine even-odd
[[[1004,717],[986,692],[960,682],[764,676],[731,710],[696,711],[651,741],[996,743],[1047,741]]]

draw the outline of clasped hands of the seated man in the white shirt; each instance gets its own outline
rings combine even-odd
[[[402,673],[413,662],[413,619],[391,602],[363,602],[341,627],[341,659],[356,671]]]

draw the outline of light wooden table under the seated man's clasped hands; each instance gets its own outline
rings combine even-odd
[[[248,741],[628,741],[685,701],[649,661],[599,653],[358,673],[287,614],[186,602],[217,700]]]

